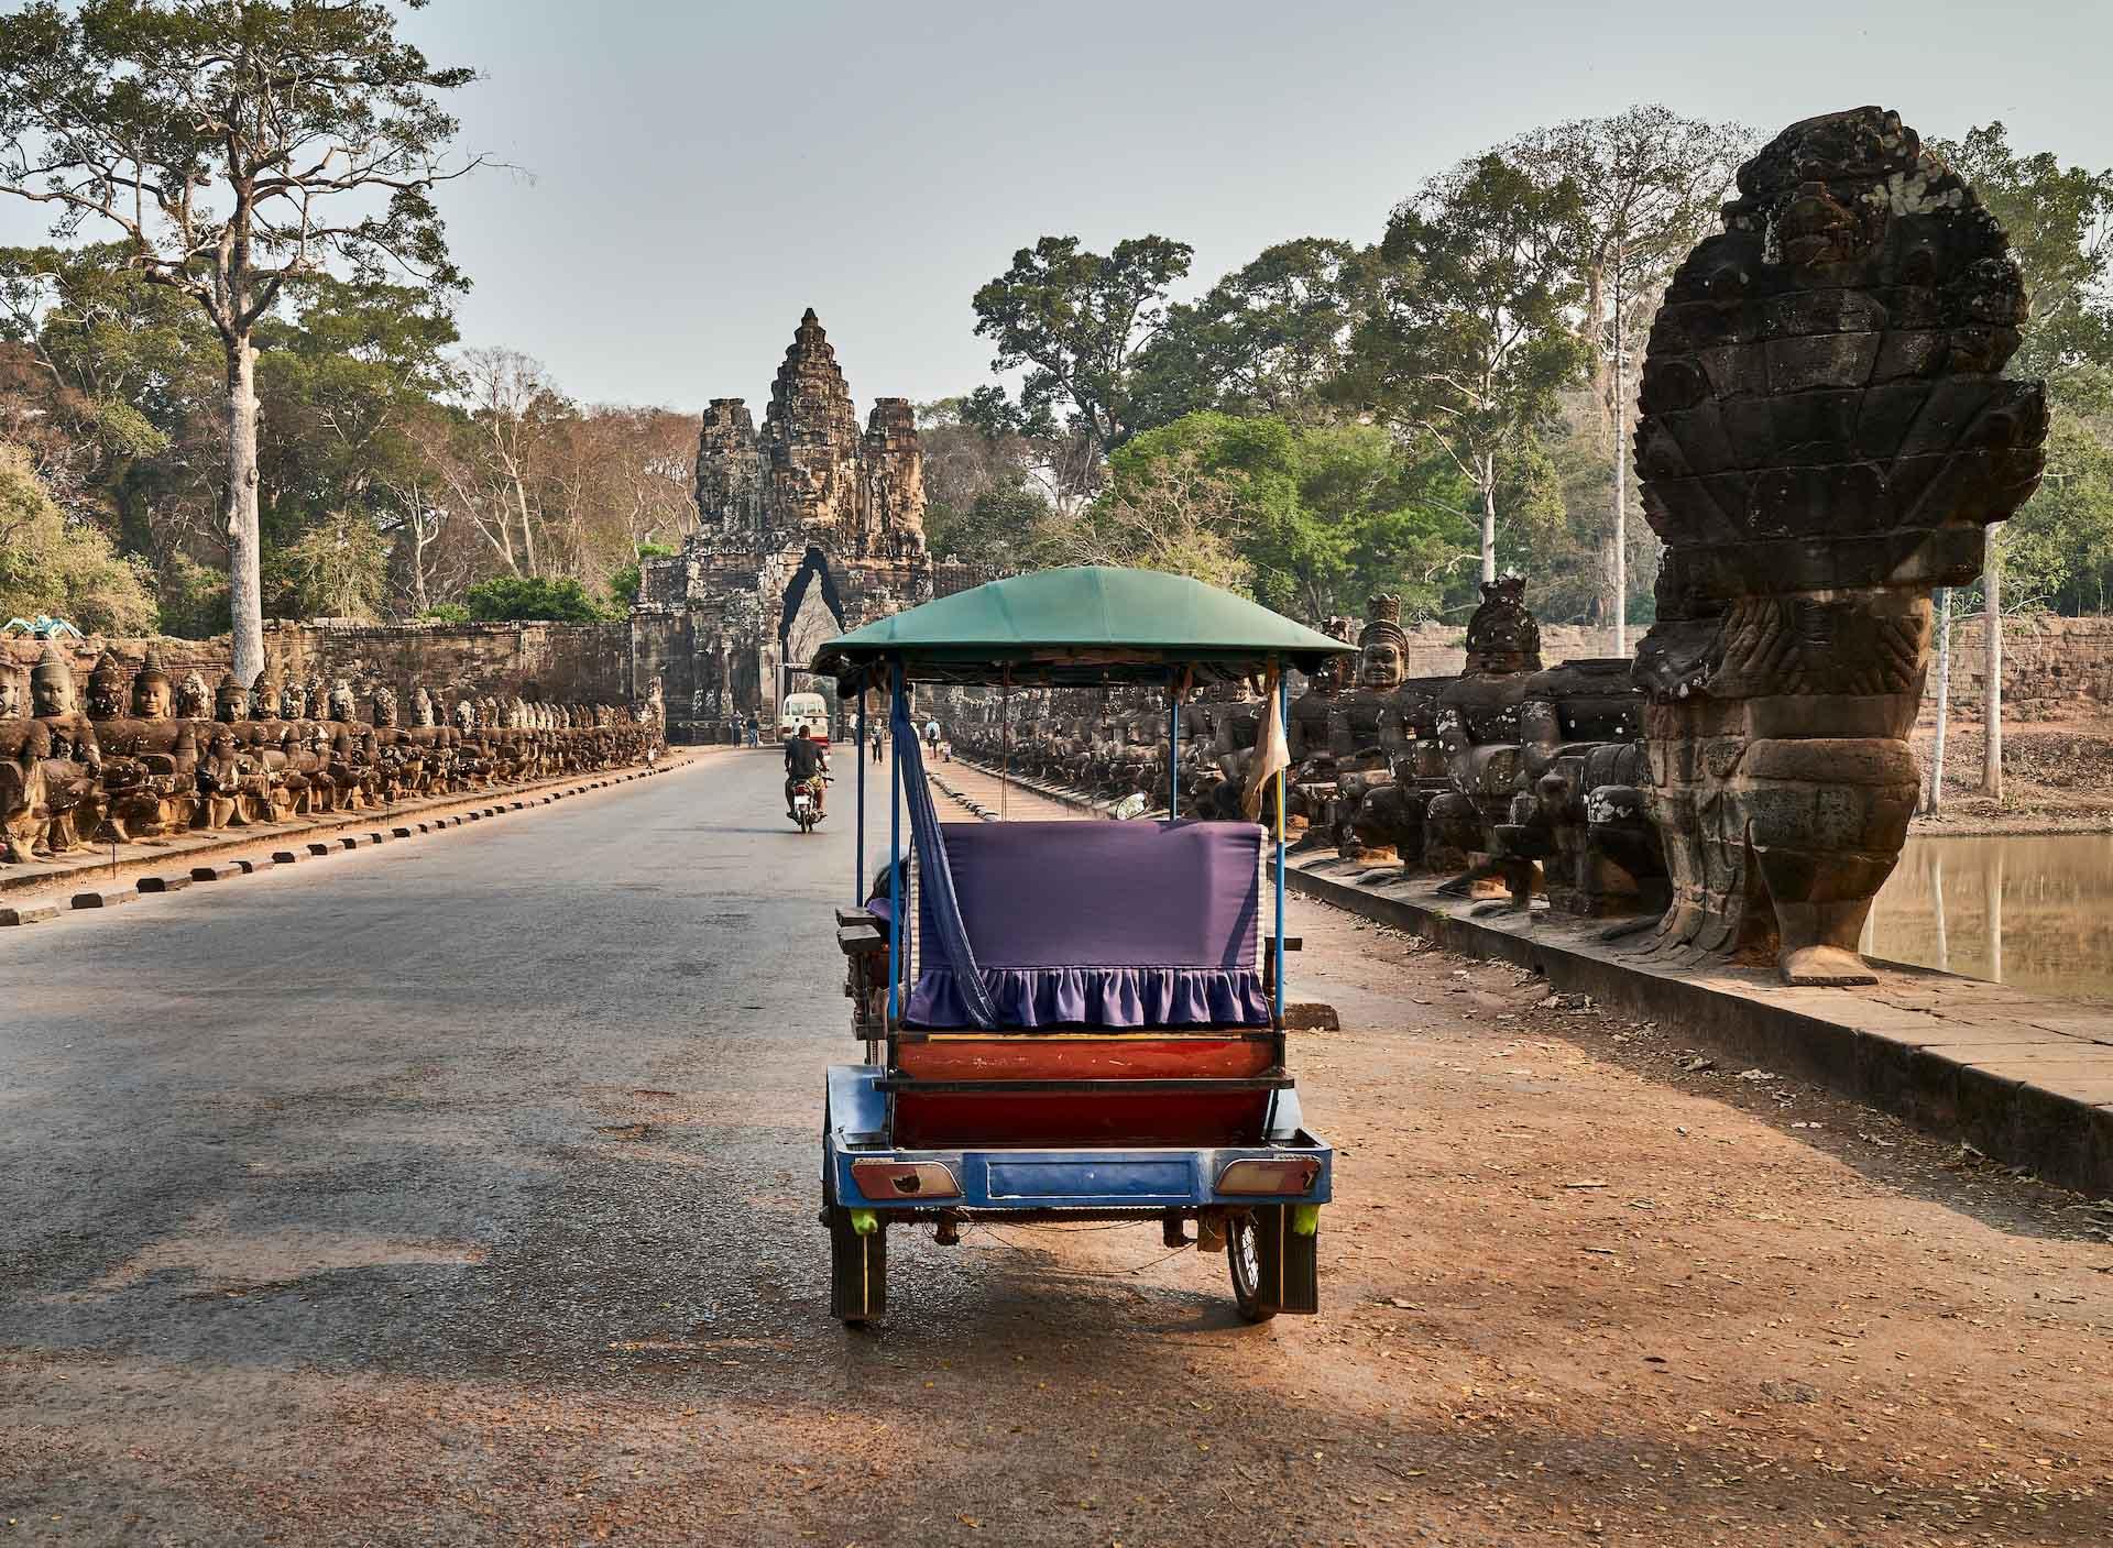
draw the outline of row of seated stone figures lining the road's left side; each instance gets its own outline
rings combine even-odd
[[[634,707],[482,697],[452,710],[416,686],[401,724],[389,686],[366,718],[344,678],[281,682],[270,665],[249,686],[224,674],[207,695],[197,672],[171,682],[152,648],[135,672],[104,650],[80,697],[46,644],[27,705],[0,672],[0,862],[611,769],[663,741],[657,684]]]

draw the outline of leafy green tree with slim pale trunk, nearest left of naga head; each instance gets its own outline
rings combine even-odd
[[[1490,152],[1395,209],[1373,310],[1338,393],[1437,448],[1481,505],[1496,579],[1498,492],[1587,363],[1568,308],[1585,201]]]

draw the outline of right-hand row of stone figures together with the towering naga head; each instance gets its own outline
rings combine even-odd
[[[1661,950],[1872,982],[1855,948],[1921,786],[1931,591],[1971,585],[1984,528],[2033,494],[2047,405],[2003,376],[2028,319],[2003,228],[1897,114],[1796,122],[1737,192],[1650,327],[1635,467],[1665,551],[1635,661],[1542,669],[1523,585],[1496,581],[1466,669],[1405,678],[1382,598],[1354,680],[1293,705],[1289,805],[1456,887],[1517,902],[1538,870],[1564,908],[1654,914]],[[1185,809],[1217,811],[1257,712],[1181,720],[1213,786]],[[1164,703],[1021,733],[1025,769],[1164,803]]]

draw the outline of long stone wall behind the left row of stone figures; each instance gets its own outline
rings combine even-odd
[[[104,646],[127,667],[139,665],[148,644],[163,667],[182,680],[197,669],[207,686],[228,669],[228,638],[213,640],[66,640],[74,680],[87,682]],[[446,699],[541,697],[573,703],[630,703],[630,623],[270,623],[264,648],[289,678],[347,678],[361,695],[387,682],[404,693],[425,684]],[[36,663],[36,640],[0,642],[0,663],[19,672]],[[640,688],[647,684],[640,684]]]

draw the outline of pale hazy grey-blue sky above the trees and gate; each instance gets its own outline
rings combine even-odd
[[[1202,289],[1633,101],[2001,118],[2113,165],[2113,0],[433,0],[406,32],[484,72],[461,146],[522,169],[442,192],[465,340],[674,408],[767,397],[805,306],[860,408],[961,393],[970,296],[1044,232],[1188,241]]]

